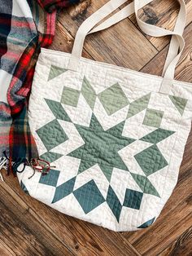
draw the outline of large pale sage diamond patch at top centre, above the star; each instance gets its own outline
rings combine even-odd
[[[103,90],[103,92],[98,95],[98,99],[100,99],[103,108],[105,108],[109,116],[129,104],[129,100],[119,83],[107,88],[107,90]]]

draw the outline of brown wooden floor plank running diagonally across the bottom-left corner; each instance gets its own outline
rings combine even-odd
[[[0,194],[1,240],[15,254],[75,255],[6,183],[0,183]]]

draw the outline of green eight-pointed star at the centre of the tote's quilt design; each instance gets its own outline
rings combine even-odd
[[[114,167],[128,171],[118,152],[133,143],[134,139],[122,136],[123,128],[124,122],[121,122],[109,130],[103,130],[94,114],[89,127],[76,125],[85,144],[68,156],[81,159],[79,173],[98,164],[110,181]]]

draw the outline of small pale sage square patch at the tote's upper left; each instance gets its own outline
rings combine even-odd
[[[61,96],[61,103],[76,107],[79,101],[80,91],[69,87],[63,88],[63,94]]]

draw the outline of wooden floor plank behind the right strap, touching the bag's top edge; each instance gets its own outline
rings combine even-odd
[[[184,32],[185,38],[185,49],[181,55],[181,60],[177,64],[176,68],[176,79],[192,82],[192,37],[191,37],[192,23],[190,23]],[[164,61],[168,52],[168,46],[160,51],[158,55],[155,56],[145,67],[141,69],[143,73],[151,73],[154,75],[161,76],[164,68]]]

